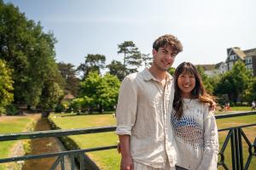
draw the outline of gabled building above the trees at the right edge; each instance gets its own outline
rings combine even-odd
[[[256,76],[256,48],[241,50],[241,48],[228,48],[227,59],[225,63],[228,71],[230,71],[237,60],[241,60],[245,63],[247,70],[253,72],[253,76]]]

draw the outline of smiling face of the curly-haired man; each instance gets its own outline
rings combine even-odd
[[[154,56],[153,65],[160,71],[168,71],[172,66],[177,52],[168,45],[166,48],[159,48],[158,51],[153,49]]]

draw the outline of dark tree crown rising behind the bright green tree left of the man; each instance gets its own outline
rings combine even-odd
[[[106,57],[101,54],[87,54],[84,57],[84,63],[80,64],[78,71],[83,72],[83,79],[85,79],[90,71],[96,71],[98,74],[101,74],[101,69],[105,67]]]

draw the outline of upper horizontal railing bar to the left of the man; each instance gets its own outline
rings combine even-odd
[[[75,134],[87,134],[87,133],[106,133],[112,132],[116,127],[90,127],[90,128],[76,128],[76,129],[59,129],[49,131],[36,131],[25,133],[2,133],[0,134],[0,141],[20,140],[20,139],[38,139],[45,137],[61,137]]]

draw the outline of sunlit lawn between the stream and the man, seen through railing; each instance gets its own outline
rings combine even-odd
[[[88,115],[88,116],[63,116],[55,117],[51,114],[49,118],[55,122],[58,127],[62,129],[81,128],[81,127],[101,127],[108,125],[115,125],[115,118],[112,114],[103,115]],[[90,133],[84,135],[70,136],[80,148],[94,148],[99,146],[108,146],[117,144],[118,137],[113,132],[110,133]],[[101,169],[119,169],[120,156],[117,150],[103,150],[88,153],[88,156],[96,162]]]

